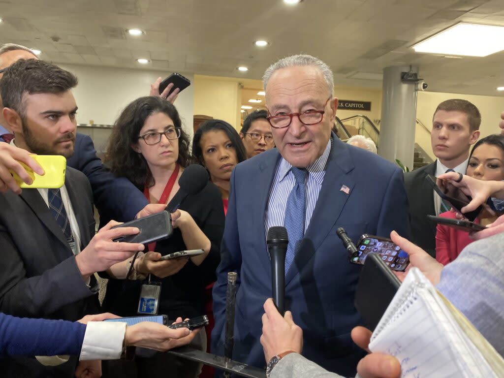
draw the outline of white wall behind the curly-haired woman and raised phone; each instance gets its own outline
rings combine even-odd
[[[113,124],[121,110],[138,97],[148,96],[150,84],[158,77],[163,79],[169,71],[131,70],[122,68],[62,65],[62,68],[79,78],[73,90],[77,106],[78,123]],[[183,75],[193,81],[192,74]],[[180,113],[185,130],[193,135],[194,86],[184,89],[175,106]]]

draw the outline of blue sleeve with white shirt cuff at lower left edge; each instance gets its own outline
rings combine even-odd
[[[0,356],[79,355],[85,333],[81,323],[0,313]]]

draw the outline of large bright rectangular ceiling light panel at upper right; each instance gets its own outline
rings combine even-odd
[[[416,52],[487,56],[504,50],[504,26],[458,23],[413,46]]]

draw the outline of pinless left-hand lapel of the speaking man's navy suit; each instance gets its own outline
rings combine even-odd
[[[259,173],[257,177],[254,177],[254,181],[257,184],[254,191],[254,193],[257,195],[257,206],[253,207],[253,214],[250,216],[250,219],[259,220],[259,224],[256,227],[256,240],[259,240],[259,242],[261,243],[257,249],[261,251],[268,251],[268,245],[266,243],[267,230],[265,230],[264,221],[265,214],[268,211],[268,200],[270,197],[271,186],[273,184],[278,160],[280,159],[280,153],[276,148],[272,150],[271,153],[275,154],[275,157],[273,159],[263,159],[258,165]],[[260,260],[264,265],[265,272],[271,272],[271,263],[268,253],[262,256]]]

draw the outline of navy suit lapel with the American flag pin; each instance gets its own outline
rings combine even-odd
[[[354,179],[348,174],[353,168],[354,164],[348,152],[348,146],[334,137],[319,199],[294,258],[294,264],[287,272],[286,285],[299,274],[338,221],[355,185]],[[349,188],[349,194],[341,191],[343,185]]]

